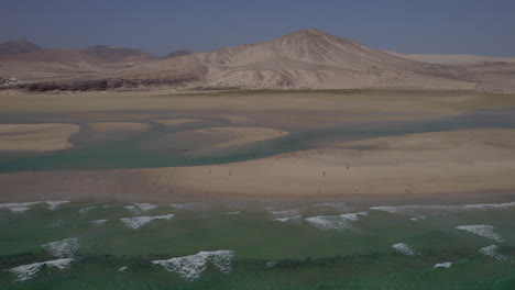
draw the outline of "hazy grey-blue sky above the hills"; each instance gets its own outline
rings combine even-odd
[[[0,0],[0,42],[164,55],[320,29],[401,53],[515,56],[515,0]]]

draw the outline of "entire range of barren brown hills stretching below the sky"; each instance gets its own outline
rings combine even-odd
[[[404,55],[314,29],[262,43],[177,54],[155,59],[139,49],[105,45],[85,51],[45,49],[0,56],[0,78],[32,82],[114,80],[117,86],[185,89],[515,90],[515,63],[509,58]]]

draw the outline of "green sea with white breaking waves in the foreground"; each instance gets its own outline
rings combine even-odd
[[[0,289],[515,289],[513,200],[2,204]],[[138,216],[154,220],[121,220]],[[73,261],[10,271],[58,258]]]

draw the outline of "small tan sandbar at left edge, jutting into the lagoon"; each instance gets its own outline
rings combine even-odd
[[[79,131],[74,124],[1,124],[0,150],[50,152],[73,146],[68,138]]]

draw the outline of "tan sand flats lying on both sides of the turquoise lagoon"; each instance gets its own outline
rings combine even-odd
[[[210,150],[238,150],[249,144],[261,146],[261,141],[281,137],[288,134],[286,131],[439,120],[474,110],[515,108],[514,94],[428,91],[116,92],[37,96],[42,98],[39,101],[32,94],[17,98],[0,98],[0,103],[12,109],[4,122],[33,114],[40,121],[76,116],[87,125],[105,121],[101,131],[138,131],[146,127],[145,122],[162,124],[180,131],[174,134],[176,138],[162,140],[160,146],[184,140],[200,148],[193,147],[189,154],[194,157]],[[59,102],[50,108],[43,100]],[[90,102],[84,108],[86,100]],[[188,127],[197,120],[207,127]],[[346,142],[329,138],[310,148],[238,163],[2,172],[0,185],[9,194],[0,194],[0,201],[494,198],[497,193],[485,192],[515,189],[515,130],[511,124],[506,129],[482,127],[481,121],[478,126],[481,129]],[[196,136],[200,133],[202,137]]]

